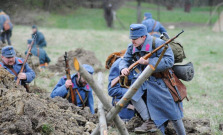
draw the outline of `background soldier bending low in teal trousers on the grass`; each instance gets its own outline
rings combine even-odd
[[[27,40],[28,48],[32,43],[32,39]],[[48,57],[46,51],[42,48],[38,48],[37,46],[33,46],[31,53],[37,57],[39,57],[40,68],[45,68],[50,63],[50,58]]]

